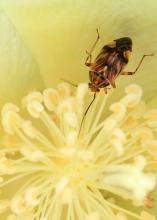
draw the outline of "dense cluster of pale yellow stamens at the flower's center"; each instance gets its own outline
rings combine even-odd
[[[125,92],[108,116],[110,94],[97,94],[80,134],[87,84],[76,91],[63,83],[28,94],[22,100],[27,116],[12,103],[3,107],[0,187],[28,178],[3,206],[13,212],[8,218],[145,219],[147,214],[121,208],[113,195],[135,206],[153,205],[157,111],[146,110],[138,85]]]

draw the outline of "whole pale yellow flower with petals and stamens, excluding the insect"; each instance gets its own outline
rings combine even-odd
[[[157,110],[150,109],[156,104],[155,57],[145,60],[136,76],[121,77],[116,90],[97,95],[80,134],[92,94],[79,82],[87,82],[84,51],[97,27],[100,47],[121,36],[133,38],[128,69],[134,70],[143,54],[156,52],[156,3],[1,5],[31,48],[46,85],[43,90],[37,64],[2,12],[1,219],[155,219],[146,208],[155,205]],[[60,78],[79,85],[52,88]]]

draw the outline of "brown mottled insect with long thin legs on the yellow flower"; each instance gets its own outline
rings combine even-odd
[[[96,93],[99,92],[101,88],[104,88],[105,93],[107,93],[107,90],[109,89],[108,86],[110,85],[113,88],[116,88],[115,80],[119,75],[135,74],[139,69],[140,65],[142,64],[143,59],[146,56],[153,56],[153,54],[143,55],[135,71],[124,71],[124,68],[129,62],[129,55],[132,52],[132,40],[129,37],[123,37],[105,45],[101,49],[96,59],[92,62],[92,52],[99,38],[100,35],[97,29],[97,39],[94,42],[90,52],[86,51],[88,56],[85,61],[85,65],[90,68],[90,83],[88,83],[88,85],[90,90],[94,92],[94,97],[84,113],[84,116],[81,121],[80,131],[85,116],[95,100]]]

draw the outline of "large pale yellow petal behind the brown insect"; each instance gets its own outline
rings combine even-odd
[[[143,54],[157,51],[157,2],[154,0],[14,1],[4,5],[35,54],[47,85],[55,85],[60,78],[75,83],[88,81],[85,50],[93,44],[96,28],[101,39],[94,56],[113,39],[122,36],[133,39],[128,70],[137,67]],[[149,99],[157,89],[156,70],[156,57],[145,59],[135,76],[119,77],[118,90],[128,83],[139,83]]]

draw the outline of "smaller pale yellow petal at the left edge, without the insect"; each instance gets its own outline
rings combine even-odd
[[[0,11],[0,104],[43,86],[39,68],[7,15]]]

